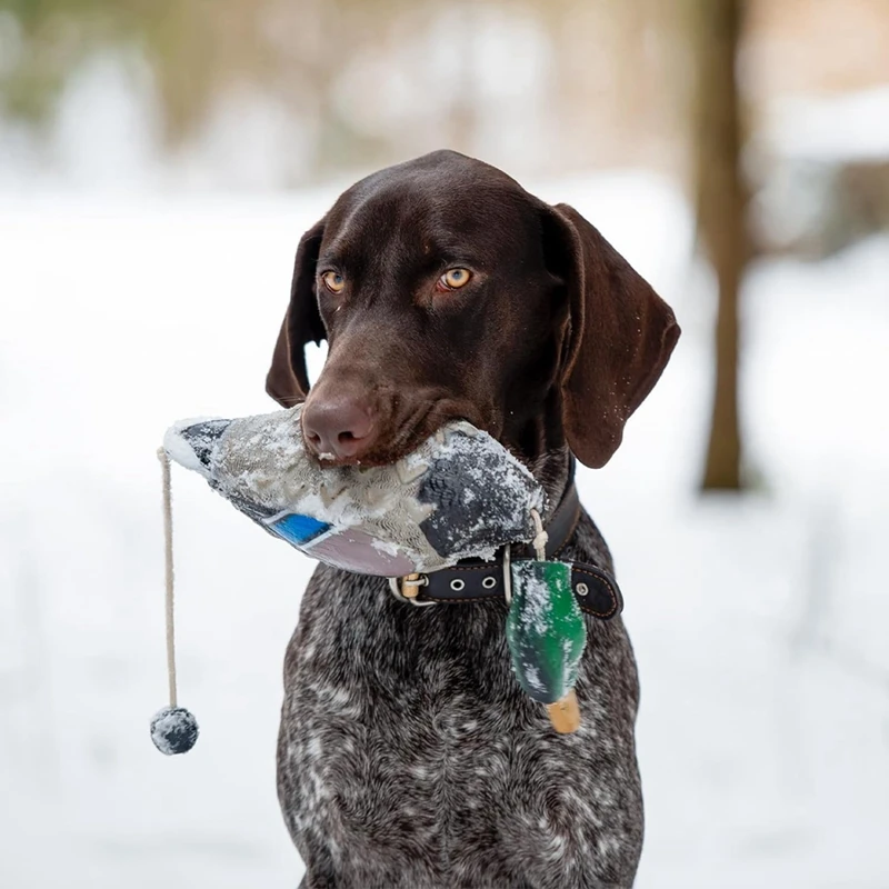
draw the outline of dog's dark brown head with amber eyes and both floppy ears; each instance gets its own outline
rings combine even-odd
[[[436,151],[361,180],[302,237],[267,389],[306,400],[306,440],[333,462],[393,462],[462,418],[526,459],[567,439],[600,467],[678,337],[580,213]],[[322,339],[309,391],[303,347]]]

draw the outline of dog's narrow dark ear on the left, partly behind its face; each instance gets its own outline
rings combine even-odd
[[[322,219],[300,239],[290,287],[290,304],[266,377],[266,391],[286,408],[292,408],[309,392],[303,347],[308,342],[319,343],[327,336],[314,291],[314,270],[323,233]]]

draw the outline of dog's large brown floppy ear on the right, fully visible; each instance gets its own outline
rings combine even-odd
[[[679,326],[670,307],[572,207],[551,208],[545,249],[569,297],[561,352],[566,437],[581,462],[602,467],[658,381]]]

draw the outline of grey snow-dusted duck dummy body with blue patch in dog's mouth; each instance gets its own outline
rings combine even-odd
[[[163,448],[270,533],[349,571],[434,571],[533,539],[543,491],[487,432],[451,422],[392,466],[324,466],[300,410],[182,420]]]

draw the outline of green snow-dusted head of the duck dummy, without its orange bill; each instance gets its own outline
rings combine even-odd
[[[516,677],[529,697],[546,705],[562,702],[569,696],[575,700],[572,689],[587,645],[587,628],[571,591],[570,565],[512,565],[507,641]]]

